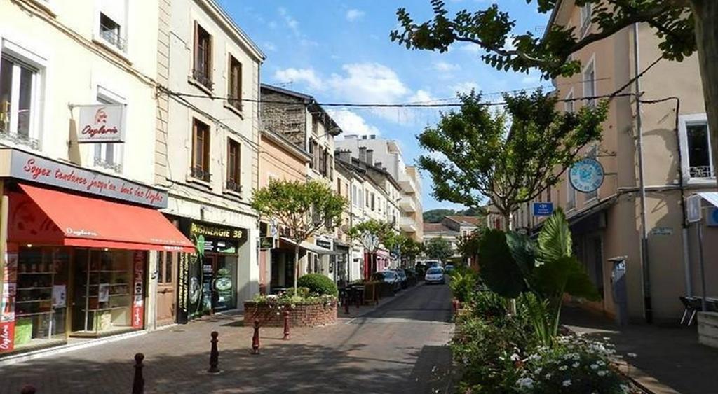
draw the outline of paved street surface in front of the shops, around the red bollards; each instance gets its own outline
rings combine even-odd
[[[250,355],[251,327],[218,316],[0,367],[0,394],[28,383],[40,394],[129,393],[136,352],[146,356],[146,393],[444,393],[449,317],[447,286],[420,286],[363,317],[292,330],[289,341],[264,328],[262,354]],[[212,330],[219,375],[205,373]]]

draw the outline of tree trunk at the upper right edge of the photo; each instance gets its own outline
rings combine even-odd
[[[696,24],[696,46],[710,130],[712,164],[714,170],[718,170],[718,1],[690,2]]]

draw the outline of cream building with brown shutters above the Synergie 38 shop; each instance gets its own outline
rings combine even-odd
[[[158,18],[154,181],[169,190],[164,212],[197,248],[159,256],[159,272],[178,267],[178,284],[158,287],[177,287],[164,305],[186,322],[241,308],[259,291],[249,200],[259,181],[264,54],[213,0],[162,0]]]

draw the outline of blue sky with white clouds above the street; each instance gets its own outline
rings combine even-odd
[[[459,44],[449,52],[410,51],[391,42],[396,9],[416,21],[432,16],[429,0],[218,0],[266,53],[262,82],[313,95],[319,102],[437,102],[457,91],[485,92],[488,100],[505,90],[550,86],[538,74],[499,72],[479,59],[477,47]],[[450,11],[485,9],[487,0],[448,0]],[[500,0],[516,19],[516,32],[541,34],[548,16],[526,0]],[[441,101],[443,102],[443,101]],[[329,108],[327,108],[329,109]],[[378,134],[398,140],[406,163],[421,149],[416,135],[434,125],[436,109],[333,108],[332,117],[348,134]],[[424,210],[460,208],[432,197],[424,176]]]

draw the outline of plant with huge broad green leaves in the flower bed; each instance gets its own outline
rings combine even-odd
[[[571,231],[560,209],[546,219],[538,241],[511,231],[486,231],[479,256],[485,284],[503,297],[521,296],[538,340],[544,345],[551,345],[558,334],[564,293],[600,299],[572,253]]]

